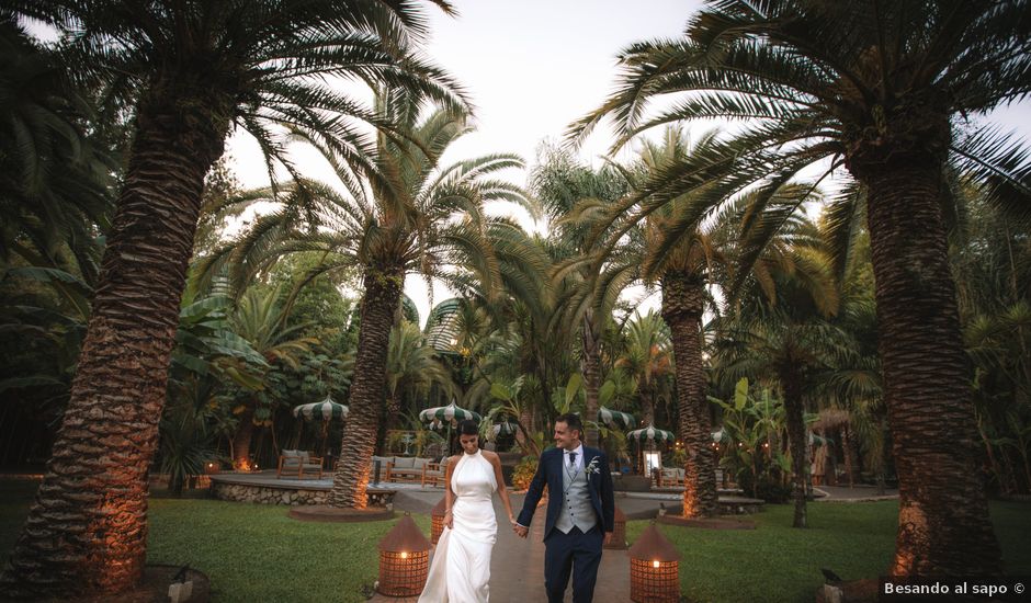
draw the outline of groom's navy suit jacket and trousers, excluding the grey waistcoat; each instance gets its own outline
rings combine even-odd
[[[569,481],[564,482],[565,455],[563,448],[552,448],[541,455],[537,471],[526,490],[522,512],[519,513],[518,523],[526,527],[533,520],[533,512],[537,508],[544,485],[547,485],[547,517],[544,522],[544,582],[547,588],[550,602],[562,602],[573,572],[573,600],[575,603],[588,603],[593,598],[594,581],[598,577],[598,566],[601,562],[601,546],[604,533],[612,532],[614,526],[615,503],[612,497],[612,475],[609,473],[609,462],[605,455],[597,450],[582,447],[582,476],[586,477],[586,493],[590,498],[589,508],[593,509],[593,527],[584,533],[579,526],[574,526],[564,533],[556,524],[563,514],[564,507],[570,501],[565,500],[565,492],[569,491]],[[575,471],[571,473],[574,475]],[[575,491],[584,492],[582,481]],[[581,493],[582,496],[582,493]],[[576,501],[574,501],[576,502]],[[580,503],[585,501],[578,501]],[[587,507],[587,505],[582,505]],[[568,516],[566,517],[568,519]],[[581,522],[582,523],[582,522]],[[590,522],[588,522],[590,523]]]

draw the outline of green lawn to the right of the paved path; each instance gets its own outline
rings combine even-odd
[[[794,508],[768,504],[757,528],[698,530],[659,525],[680,550],[680,589],[689,601],[813,601],[820,568],[846,580],[874,578],[895,547],[897,501],[813,503],[809,527],[791,527]],[[1031,505],[993,502],[992,519],[1011,574],[1031,573]],[[633,542],[648,522],[630,522]]]

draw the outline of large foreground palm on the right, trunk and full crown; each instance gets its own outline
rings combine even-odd
[[[712,201],[749,184],[771,195],[824,159],[818,178],[845,168],[865,189],[902,508],[893,574],[1001,567],[975,467],[943,167],[951,155],[994,203],[1028,217],[1027,153],[997,130],[962,137],[952,122],[1031,91],[1024,13],[1022,3],[988,0],[712,2],[683,39],[627,48],[618,91],[575,125],[586,134],[613,115],[622,145],[657,124],[748,121],[723,153],[655,179],[649,189],[660,194],[642,214],[712,178],[723,179]],[[644,117],[647,101],[667,92],[687,96]],[[849,200],[829,208],[841,241],[856,231]],[[801,203],[767,201],[755,216],[772,231]]]

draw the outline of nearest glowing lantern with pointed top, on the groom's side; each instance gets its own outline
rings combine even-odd
[[[655,522],[630,547],[630,599],[635,603],[680,601],[680,551]]]

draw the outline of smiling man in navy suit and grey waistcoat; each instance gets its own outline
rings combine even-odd
[[[601,451],[580,443],[582,433],[584,425],[576,414],[562,414],[555,420],[558,447],[541,455],[514,526],[516,534],[525,538],[546,483],[544,587],[548,603],[562,603],[570,571],[574,603],[589,603],[594,596],[601,546],[612,539],[615,503],[609,463]]]

